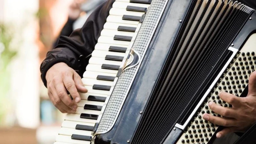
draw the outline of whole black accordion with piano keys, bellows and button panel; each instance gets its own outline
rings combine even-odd
[[[116,0],[55,143],[213,143],[202,115],[232,108],[220,91],[247,95],[255,40],[256,12],[234,0]]]

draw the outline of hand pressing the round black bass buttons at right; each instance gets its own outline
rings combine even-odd
[[[216,134],[217,138],[230,132],[245,132],[256,122],[256,72],[251,74],[248,86],[248,95],[244,98],[236,97],[226,92],[220,92],[220,98],[232,104],[232,108],[224,108],[214,102],[209,103],[212,111],[225,116],[225,118],[221,118],[209,114],[203,115],[205,120],[225,126],[222,131]]]

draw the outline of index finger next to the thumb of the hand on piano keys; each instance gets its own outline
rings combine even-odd
[[[63,83],[65,87],[67,88],[68,92],[72,96],[72,98],[76,101],[79,102],[81,100],[79,93],[77,92],[75,82],[72,78],[73,76],[65,76],[63,78]]]

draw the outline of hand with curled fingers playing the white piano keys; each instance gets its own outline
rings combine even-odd
[[[62,113],[75,113],[81,98],[78,92],[87,92],[81,77],[67,64],[60,62],[53,65],[46,73],[48,95],[52,103]],[[73,100],[68,96],[68,92]]]

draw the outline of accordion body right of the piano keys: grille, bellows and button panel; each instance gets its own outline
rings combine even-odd
[[[247,95],[256,12],[233,0],[152,0],[93,129],[94,144],[210,144],[220,91]],[[221,116],[220,116],[221,117]]]

